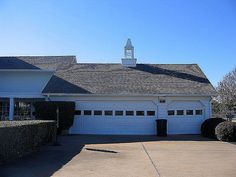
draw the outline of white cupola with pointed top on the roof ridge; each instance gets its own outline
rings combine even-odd
[[[124,58],[122,60],[122,65],[126,67],[136,67],[137,59],[134,58],[134,46],[131,40],[128,39],[124,47]]]

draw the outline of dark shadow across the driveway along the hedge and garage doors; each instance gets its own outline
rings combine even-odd
[[[132,143],[147,141],[211,141],[199,135],[111,136],[68,135],[59,138],[61,146],[44,146],[40,151],[0,166],[0,177],[49,177],[81,152],[86,144]]]

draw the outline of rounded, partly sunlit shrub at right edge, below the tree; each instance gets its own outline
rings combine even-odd
[[[216,126],[216,137],[220,141],[236,141],[236,123],[222,122]]]

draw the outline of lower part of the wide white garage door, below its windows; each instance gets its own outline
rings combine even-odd
[[[80,117],[75,119],[72,134],[155,134],[156,118]]]

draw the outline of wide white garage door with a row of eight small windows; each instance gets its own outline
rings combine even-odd
[[[155,134],[151,101],[77,101],[72,134]]]

